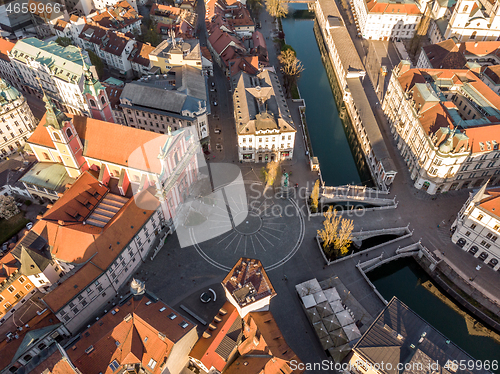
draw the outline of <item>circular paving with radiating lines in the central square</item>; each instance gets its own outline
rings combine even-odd
[[[254,181],[222,187],[214,196],[204,225],[188,228],[191,244],[213,266],[229,271],[246,256],[273,270],[299,249],[305,223],[293,198]]]

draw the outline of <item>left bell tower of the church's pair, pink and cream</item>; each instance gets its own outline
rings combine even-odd
[[[43,96],[45,101],[45,123],[52,143],[56,148],[57,158],[66,168],[71,178],[77,178],[88,169],[83,157],[83,145],[70,117],[57,109],[52,101]]]

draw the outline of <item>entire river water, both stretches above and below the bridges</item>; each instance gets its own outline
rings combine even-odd
[[[293,14],[296,9],[307,9],[307,6],[291,5],[290,13]],[[282,21],[282,25],[287,44],[295,49],[305,68],[298,86],[306,101],[307,127],[314,155],[320,162],[323,180],[332,186],[370,184],[366,170],[359,163],[356,146],[352,146],[352,134],[349,134],[349,129],[346,133],[339,117],[327,74],[331,66],[328,66],[328,62],[322,62],[314,35],[314,19],[289,16]],[[358,160],[358,164],[355,160]],[[466,314],[423,286],[431,284],[428,282],[429,277],[414,260],[392,262],[371,272],[369,276],[387,300],[393,296],[400,298],[475,359],[500,360],[500,344],[490,337],[471,335],[464,317]],[[472,321],[470,316],[466,318]]]

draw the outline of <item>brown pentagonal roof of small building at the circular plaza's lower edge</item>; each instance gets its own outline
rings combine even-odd
[[[262,263],[251,258],[240,258],[222,281],[222,286],[240,307],[276,295]]]

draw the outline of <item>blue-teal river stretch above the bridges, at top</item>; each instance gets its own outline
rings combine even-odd
[[[291,14],[295,9],[307,9],[307,5],[290,5]],[[317,156],[320,162],[325,184],[328,186],[363,182],[370,184],[369,179],[362,180],[360,177],[342,126],[314,36],[314,19],[297,19],[289,16],[283,19],[282,25],[287,44],[295,49],[298,59],[305,68],[299,78],[298,86],[302,98],[306,101],[307,128],[314,156]]]

